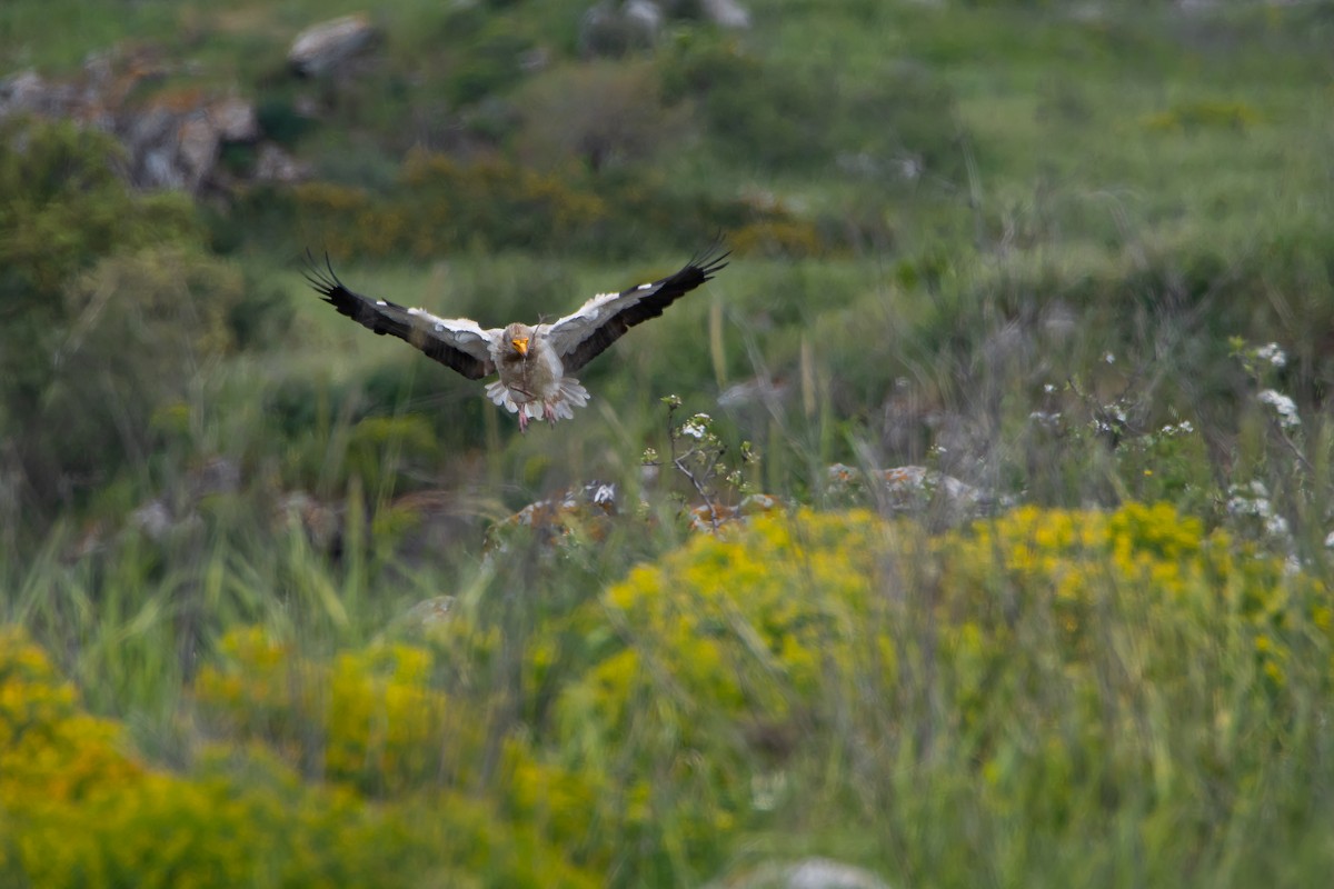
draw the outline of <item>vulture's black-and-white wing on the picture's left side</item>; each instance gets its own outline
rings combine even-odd
[[[388,333],[411,343],[470,380],[495,373],[490,344],[491,336],[499,331],[483,331],[476,321],[468,319],[439,319],[423,309],[407,309],[388,300],[354,293],[343,287],[327,256],[323,268],[308,251],[305,259],[305,280],[339,313],[376,333]]]

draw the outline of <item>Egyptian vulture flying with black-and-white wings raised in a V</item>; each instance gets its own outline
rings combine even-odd
[[[550,324],[483,329],[468,319],[440,319],[424,309],[406,309],[388,300],[347,289],[328,257],[324,268],[309,263],[305,279],[342,315],[376,333],[390,333],[470,380],[499,375],[487,384],[487,397],[528,420],[572,420],[574,408],[588,404],[588,391],[574,373],[640,321],[655,319],[674,301],[710,280],[727,265],[718,245],[698,253],[679,272],[620,293],[599,293],[578,311]],[[309,259],[309,256],[308,256]]]

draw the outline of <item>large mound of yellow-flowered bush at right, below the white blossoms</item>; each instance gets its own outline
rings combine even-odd
[[[939,538],[867,513],[762,518],[635,569],[578,618],[595,654],[558,700],[554,761],[624,788],[595,794],[594,820],[631,881],[671,873],[674,849],[714,860],[771,812],[847,824],[836,802],[810,809],[843,794],[878,813],[875,837],[1009,849],[1006,882],[1109,818],[1189,825],[1155,846],[1171,872],[1227,841],[1210,826],[1227,810],[1201,800],[1313,742],[1330,614],[1313,578],[1162,505],[1021,509]],[[1186,713],[1245,722],[1235,758]],[[926,812],[948,825],[923,836]]]

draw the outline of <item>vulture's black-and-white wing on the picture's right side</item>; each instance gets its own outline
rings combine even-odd
[[[566,373],[588,364],[626,331],[658,317],[664,308],[716,275],[727,265],[728,257],[720,249],[720,244],[714,244],[696,253],[675,275],[620,293],[602,293],[579,311],[552,321],[547,328],[547,340],[560,356]]]

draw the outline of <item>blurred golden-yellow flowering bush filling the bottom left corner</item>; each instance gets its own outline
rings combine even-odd
[[[237,650],[257,656],[265,649]],[[400,654],[399,669],[411,669],[411,658]],[[272,668],[273,658],[257,669],[265,664]],[[352,686],[370,692],[362,678]],[[391,696],[396,688],[390,686]],[[419,698],[396,700],[403,709],[391,705],[394,712],[414,725],[436,713],[416,712]],[[374,728],[380,700],[360,694],[354,701],[355,713],[340,710],[340,720],[370,716],[363,728]],[[153,770],[124,746],[120,726],[83,713],[40,649],[13,629],[0,632],[5,885],[594,885],[531,832],[510,830],[460,796],[371,805],[347,788],[303,784],[255,745],[205,748],[188,777]],[[355,757],[366,748],[344,752]],[[371,760],[362,768],[375,765],[386,764]]]

